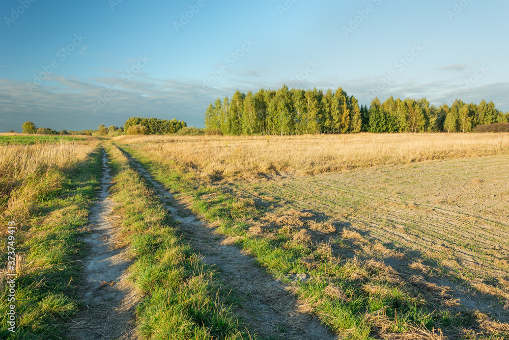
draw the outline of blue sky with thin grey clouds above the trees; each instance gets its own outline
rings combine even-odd
[[[509,110],[505,0],[32,1],[0,4],[0,132],[203,127],[215,98],[283,84]]]

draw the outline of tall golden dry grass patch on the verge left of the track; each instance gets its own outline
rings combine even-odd
[[[24,218],[34,203],[58,192],[66,173],[86,160],[97,142],[0,146],[0,214]]]

